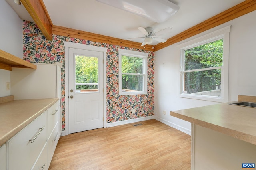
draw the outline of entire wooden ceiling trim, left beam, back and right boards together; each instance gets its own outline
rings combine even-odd
[[[177,34],[176,36],[169,38],[165,43],[159,43],[155,45],[154,49],[152,49],[153,47],[152,45],[145,45],[145,48],[144,48],[143,46],[140,46],[141,43],[138,43],[138,42],[132,42],[128,40],[122,40],[119,38],[103,36],[100,34],[94,34],[94,33],[85,32],[81,30],[75,30],[72,28],[54,26],[52,24],[50,16],[42,0],[20,0],[20,1],[25,6],[29,14],[32,16],[32,18],[34,19],[34,21],[36,22],[36,24],[38,25],[38,27],[40,28],[40,30],[43,32],[44,36],[48,40],[52,40],[52,34],[56,34],[60,36],[80,38],[84,40],[91,40],[95,42],[102,42],[102,43],[108,43],[113,45],[121,45],[124,47],[144,49],[148,51],[158,51],[164,47],[168,47],[174,43],[190,38],[196,34],[199,34],[201,32],[204,32],[220,24],[223,24],[225,22],[228,22],[244,14],[247,14],[249,12],[256,10],[256,0],[245,0],[244,2],[228,10],[225,10],[224,12],[221,12],[216,16],[213,16],[212,18],[209,18],[208,20],[205,20],[204,22],[201,22],[200,24],[197,24],[196,26],[189,28],[184,32],[181,32],[180,34]]]

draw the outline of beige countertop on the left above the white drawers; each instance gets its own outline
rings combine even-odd
[[[0,104],[0,146],[36,119],[58,98],[14,100]]]

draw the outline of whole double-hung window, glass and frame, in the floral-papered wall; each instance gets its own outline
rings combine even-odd
[[[148,53],[119,49],[119,95],[147,94]]]

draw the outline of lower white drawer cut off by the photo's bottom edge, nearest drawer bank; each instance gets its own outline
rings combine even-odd
[[[32,170],[47,170],[47,167],[47,143],[45,143],[42,152],[40,153],[38,159],[32,167]]]

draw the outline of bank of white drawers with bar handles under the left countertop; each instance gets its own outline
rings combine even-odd
[[[0,170],[48,169],[60,138],[59,114],[57,101],[6,142],[7,147],[4,145],[0,148]],[[7,167],[2,169],[6,155]]]

